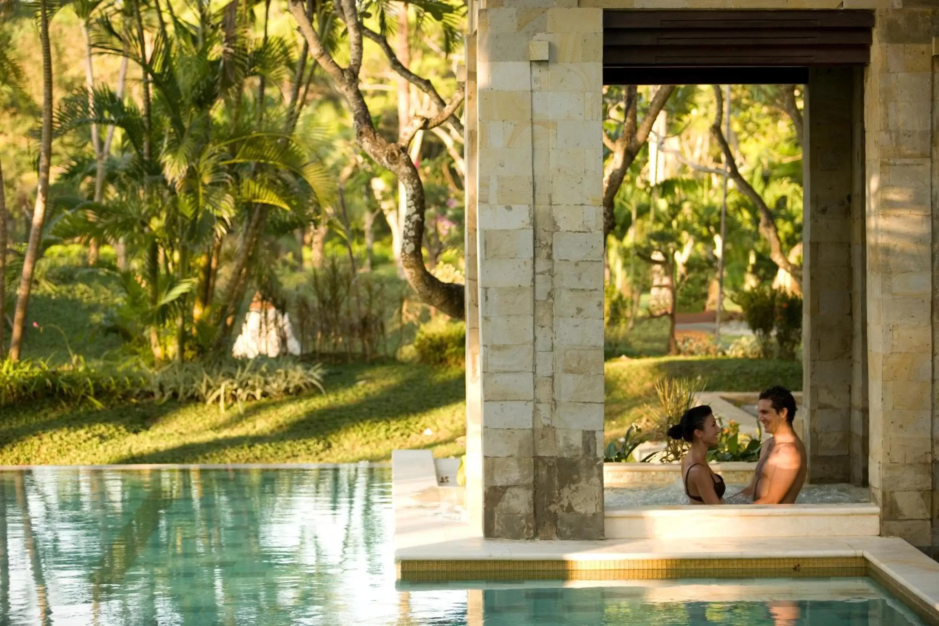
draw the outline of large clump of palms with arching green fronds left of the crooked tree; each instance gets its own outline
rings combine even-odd
[[[121,131],[121,154],[105,165],[109,197],[72,206],[55,233],[121,240],[137,251],[123,283],[157,363],[223,348],[249,283],[270,267],[260,246],[266,233],[316,220],[334,194],[312,145],[294,133],[299,103],[266,97],[265,81],[284,80],[291,67],[285,42],[269,37],[267,23],[263,38],[254,37],[240,11],[193,9],[193,22],[170,11],[170,35],[155,7],[152,45],[144,45],[139,5],[136,33],[100,19],[95,48],[140,66],[143,109],[99,87],[66,99],[56,119],[62,134],[87,126]],[[235,232],[237,250],[225,256]]]

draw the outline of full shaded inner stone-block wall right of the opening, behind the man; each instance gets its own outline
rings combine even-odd
[[[816,483],[866,481],[861,77],[856,68],[811,69],[803,112],[803,411]]]

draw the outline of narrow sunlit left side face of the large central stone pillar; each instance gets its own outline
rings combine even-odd
[[[469,4],[473,15],[475,3]],[[469,20],[466,38],[467,82],[463,150],[467,165],[466,212],[464,216],[466,254],[466,328],[467,328],[467,435],[466,435],[466,508],[469,524],[483,532],[483,397],[481,395],[479,358],[479,259],[476,253],[476,206],[477,206],[477,154],[479,131],[477,123],[476,87],[476,29],[474,20]]]

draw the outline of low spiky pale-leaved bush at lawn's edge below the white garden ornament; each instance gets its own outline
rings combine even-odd
[[[264,398],[283,398],[323,388],[321,365],[291,359],[225,360],[217,363],[172,363],[149,377],[149,392],[158,402],[170,399],[230,405]]]

